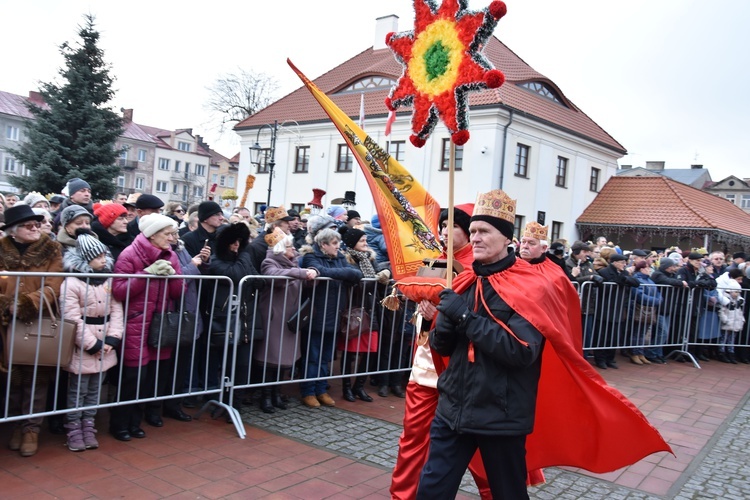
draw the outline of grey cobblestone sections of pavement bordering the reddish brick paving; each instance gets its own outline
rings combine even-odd
[[[538,499],[659,500],[750,498],[750,400],[746,395],[667,496],[639,490],[559,468],[545,469],[546,484],[529,489]],[[243,409],[243,420],[370,465],[392,469],[401,426],[341,408],[310,410],[292,398],[289,409],[268,415]],[[478,495],[467,473],[461,492]]]

